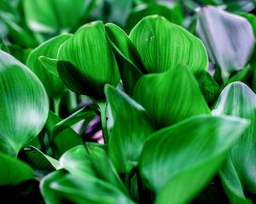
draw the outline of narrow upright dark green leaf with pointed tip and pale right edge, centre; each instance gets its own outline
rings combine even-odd
[[[143,150],[143,144],[154,132],[146,111],[125,93],[107,86],[106,97],[113,115],[109,156],[119,173],[130,173]]]

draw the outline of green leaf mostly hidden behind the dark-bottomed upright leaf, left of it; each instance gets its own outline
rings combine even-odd
[[[40,44],[38,48],[34,48],[26,59],[26,65],[38,76],[43,82],[49,97],[59,98],[64,91],[64,85],[59,77],[50,74],[38,59],[40,56],[56,59],[58,49],[63,42],[66,42],[72,35],[63,34],[49,39]]]

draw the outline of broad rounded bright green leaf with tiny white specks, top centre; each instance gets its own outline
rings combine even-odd
[[[175,69],[181,62],[202,81],[208,69],[207,51],[201,40],[163,17],[143,18],[130,34],[149,73]]]

